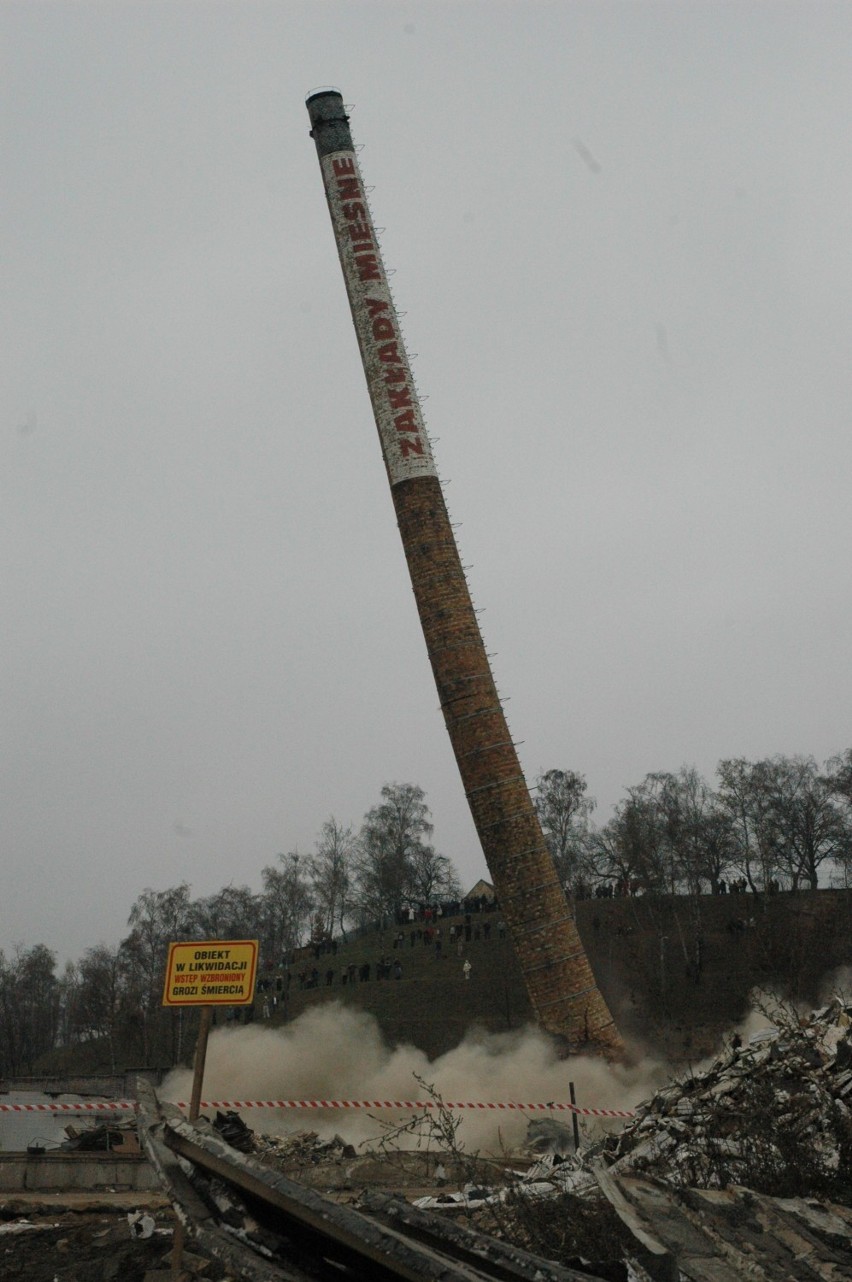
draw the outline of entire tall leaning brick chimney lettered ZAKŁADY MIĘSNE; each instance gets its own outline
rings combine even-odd
[[[621,1050],[509,733],[387,283],[343,99],[307,97],[352,320],[443,719],[536,1015],[570,1050]]]

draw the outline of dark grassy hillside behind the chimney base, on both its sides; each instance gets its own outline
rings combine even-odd
[[[471,1024],[493,1032],[520,1028],[532,1020],[532,1009],[498,919],[498,913],[474,917],[461,951],[447,936],[464,918],[445,919],[439,958],[434,944],[415,937],[411,945],[410,929],[395,946],[398,928],[338,944],[334,955],[315,958],[305,950],[273,1022],[293,1019],[315,1003],[352,1003],[375,1015],[391,1044],[413,1042],[430,1058],[457,1045]],[[624,1035],[675,1061],[710,1053],[746,1015],[755,988],[816,1004],[826,977],[852,965],[847,891],[587,900],[577,905],[577,920]],[[382,958],[391,963],[391,978],[375,978]],[[402,973],[395,979],[397,960]],[[369,981],[341,982],[343,970],[366,963]],[[299,974],[314,968],[318,986],[301,987]]]

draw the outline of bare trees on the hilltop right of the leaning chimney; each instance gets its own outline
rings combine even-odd
[[[546,770],[536,806],[569,895],[816,890],[852,873],[852,749],[730,758],[712,787],[694,767],[646,774],[602,827],[582,774]]]

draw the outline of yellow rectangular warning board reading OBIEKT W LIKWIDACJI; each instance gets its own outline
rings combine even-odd
[[[164,1006],[246,1006],[255,997],[256,940],[169,944]]]

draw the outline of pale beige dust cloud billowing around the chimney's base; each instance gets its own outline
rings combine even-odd
[[[445,1101],[568,1103],[574,1082],[579,1108],[632,1109],[668,1081],[664,1065],[643,1060],[633,1067],[592,1056],[557,1059],[553,1044],[534,1027],[512,1033],[471,1031],[446,1055],[429,1060],[414,1046],[391,1049],[375,1019],[363,1010],[327,1004],[292,1024],[249,1024],[214,1029],[208,1044],[204,1100],[424,1100],[428,1085]],[[418,1078],[420,1081],[418,1081]],[[161,1097],[188,1100],[192,1074],[176,1069]],[[243,1118],[256,1131],[286,1135],[316,1131],[350,1144],[378,1141],[387,1123],[413,1110],[389,1109],[251,1109]],[[457,1140],[468,1153],[500,1154],[523,1144],[530,1117],[511,1111],[454,1111],[461,1118]],[[570,1126],[570,1113],[555,1113]],[[587,1135],[601,1123],[583,1119]]]

